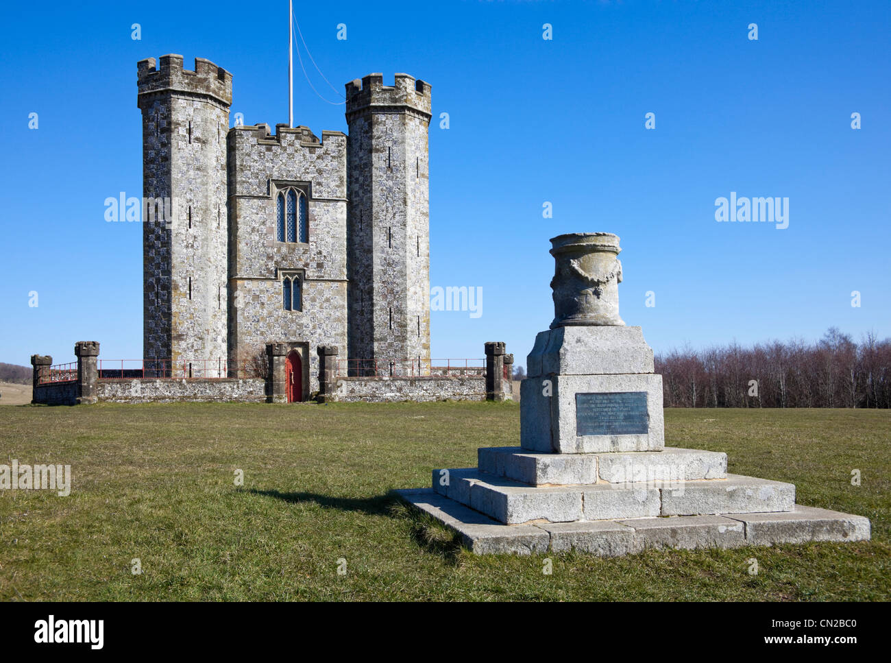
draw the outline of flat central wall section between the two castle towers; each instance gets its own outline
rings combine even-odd
[[[255,356],[268,340],[302,341],[317,391],[315,346],[347,346],[347,136],[307,127],[233,127],[229,133],[229,358]],[[306,192],[307,242],[276,241],[275,199]],[[302,310],[282,308],[282,274],[298,273]]]

